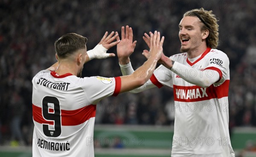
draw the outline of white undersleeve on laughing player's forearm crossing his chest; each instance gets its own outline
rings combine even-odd
[[[171,71],[179,75],[186,82],[205,88],[211,86],[220,79],[220,75],[215,70],[201,71],[178,62],[174,62]]]

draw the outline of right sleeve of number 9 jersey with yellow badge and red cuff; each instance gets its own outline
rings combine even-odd
[[[81,81],[87,100],[92,104],[98,103],[105,97],[117,96],[121,89],[120,77],[85,77]]]

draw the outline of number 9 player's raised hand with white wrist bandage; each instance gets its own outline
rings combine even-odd
[[[114,31],[111,32],[111,34],[108,35],[108,31],[105,32],[104,36],[100,40],[99,44],[95,46],[90,51],[87,51],[87,55],[90,58],[90,60],[97,58],[97,59],[103,59],[108,57],[115,57],[116,55],[113,53],[107,53],[108,49],[115,46],[120,42],[120,40],[116,40],[116,37],[118,37],[118,33],[114,35]]]

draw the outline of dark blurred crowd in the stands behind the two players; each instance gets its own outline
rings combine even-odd
[[[183,14],[203,7],[219,18],[217,49],[230,59],[230,128],[256,126],[256,1],[254,0],[1,0],[0,1],[0,138],[31,137],[32,83],[35,74],[55,59],[54,42],[75,32],[93,49],[105,31],[129,25],[137,46],[136,69],[148,49],[145,32],[160,31],[167,56],[179,53],[178,24]],[[116,47],[108,52],[116,53]],[[83,77],[120,76],[118,58],[92,60]],[[159,125],[174,123],[172,88],[108,97],[97,106],[96,124]]]

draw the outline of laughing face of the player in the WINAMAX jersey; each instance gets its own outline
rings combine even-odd
[[[203,24],[198,17],[183,17],[179,24],[181,52],[191,53],[192,51],[199,50],[202,47],[207,47],[205,39],[208,34],[205,34],[205,31],[201,31],[202,25]]]

